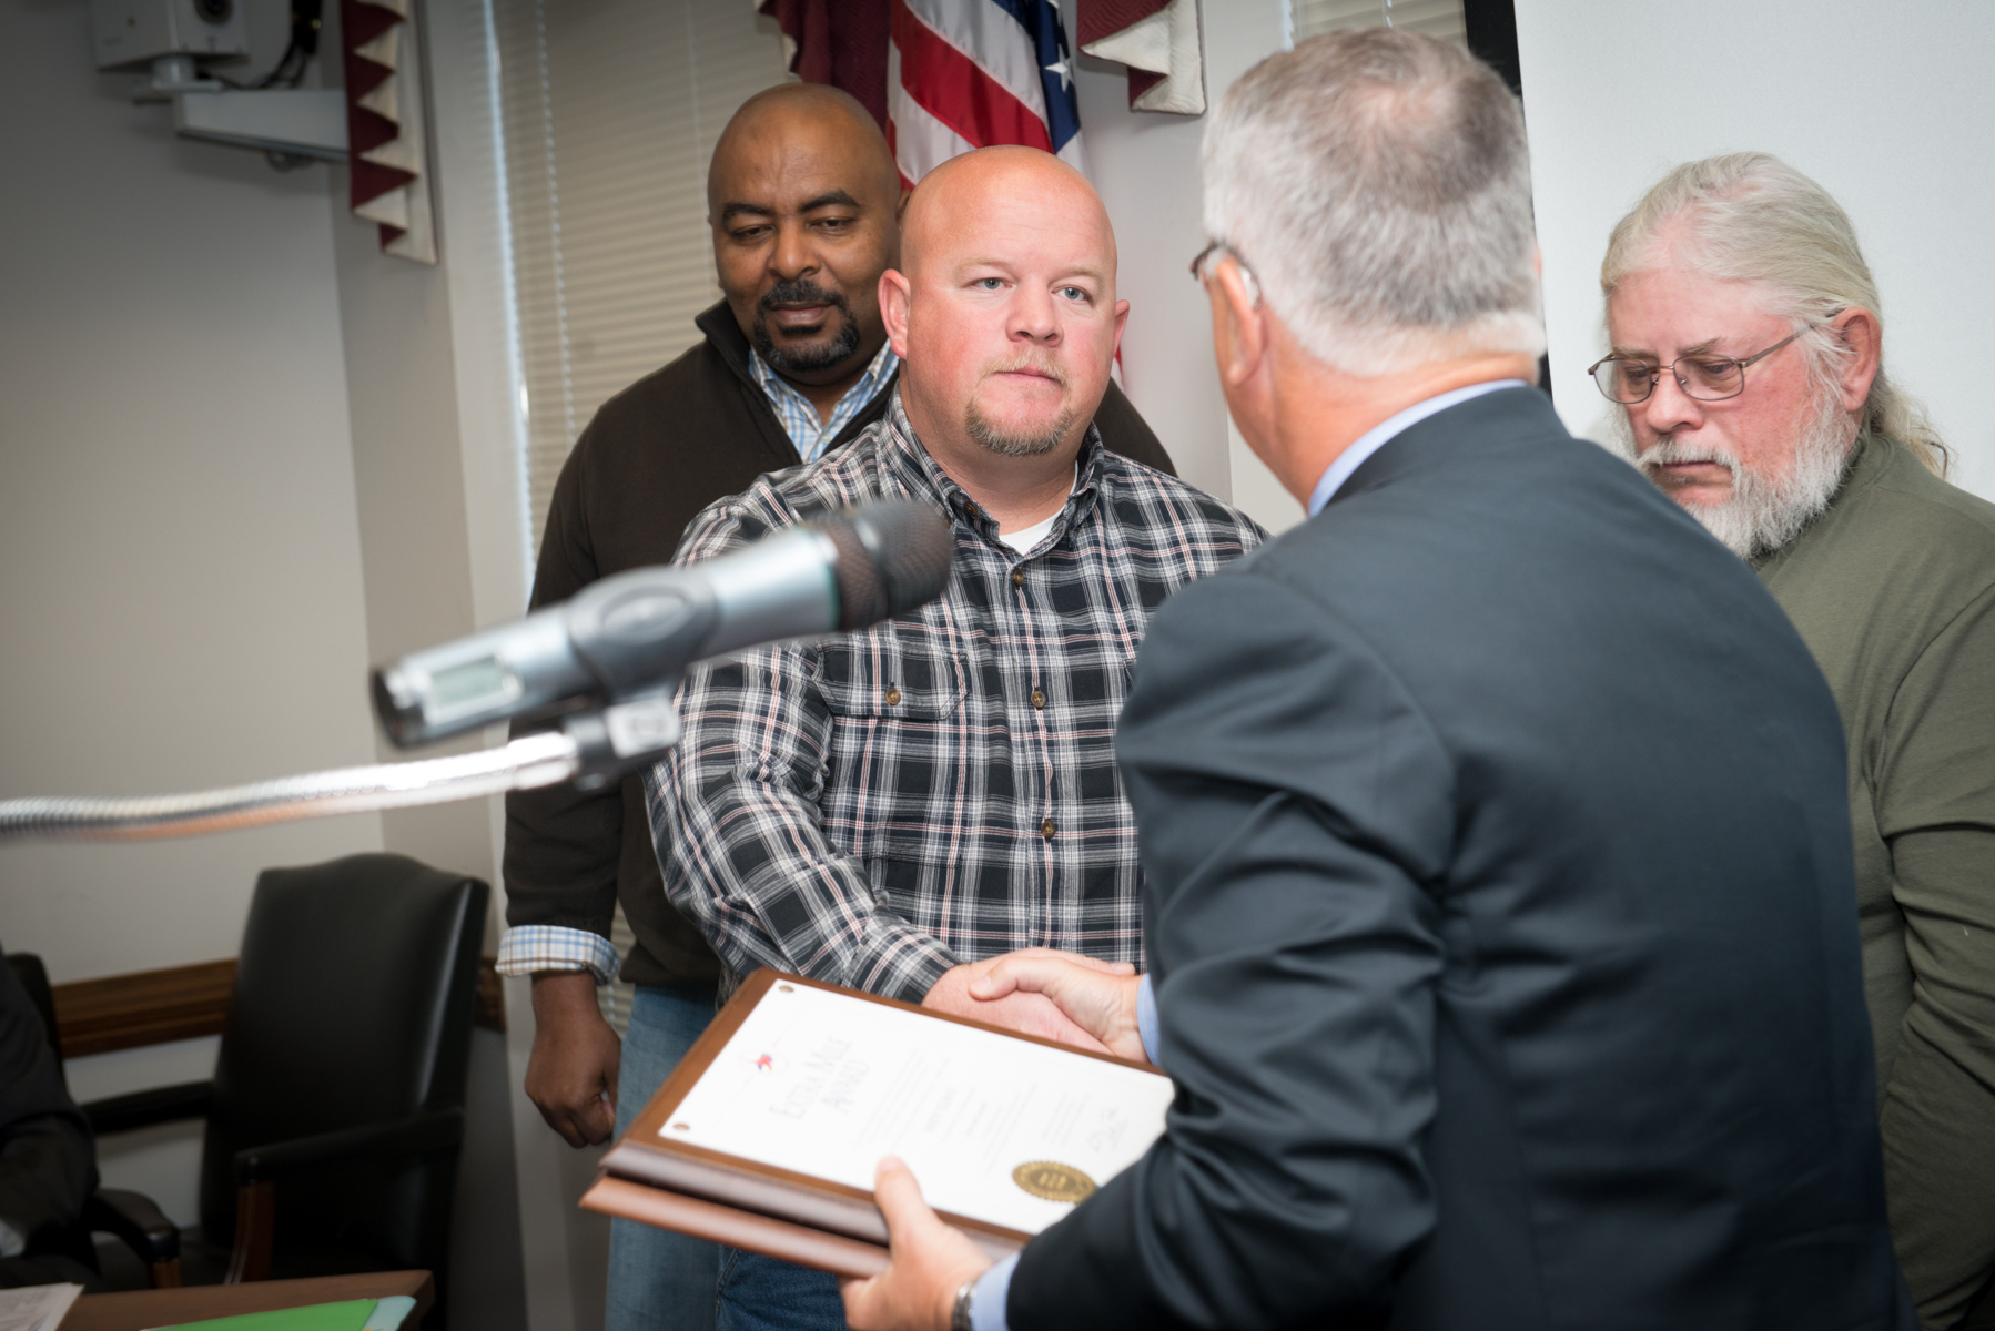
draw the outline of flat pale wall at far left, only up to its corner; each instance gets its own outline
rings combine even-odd
[[[283,46],[249,8],[251,68]],[[92,70],[84,0],[0,8],[0,798],[367,762],[367,639],[321,170],[176,140]],[[257,870],[381,848],[335,818],[0,848],[0,942],[56,982],[235,954]],[[213,1040],[76,1060],[84,1096]],[[194,1219],[196,1127],[106,1143]]]

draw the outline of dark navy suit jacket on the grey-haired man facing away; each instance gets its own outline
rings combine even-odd
[[[1167,601],[1117,754],[1177,1100],[1011,1331],[1913,1325],[1835,700],[1542,395]]]

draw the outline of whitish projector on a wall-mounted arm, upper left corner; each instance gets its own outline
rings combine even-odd
[[[317,12],[317,2],[291,6],[285,66],[299,50],[301,28],[315,42]],[[205,76],[209,66],[249,58],[237,0],[90,0],[90,28],[98,70],[148,74],[132,100],[172,102],[182,138],[345,162],[347,108],[337,88],[237,88]]]

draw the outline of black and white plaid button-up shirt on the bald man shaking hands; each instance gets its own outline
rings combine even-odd
[[[680,559],[878,497],[950,517],[948,591],[686,676],[684,736],[644,782],[672,904],[736,976],[776,966],[910,1002],[958,962],[1035,944],[1141,964],[1115,716],[1151,611],[1261,529],[1089,429],[1067,505],[1019,555],[896,393],[838,453],[700,513]]]

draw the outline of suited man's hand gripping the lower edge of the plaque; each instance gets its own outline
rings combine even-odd
[[[956,1291],[984,1275],[992,1259],[922,1201],[922,1185],[892,1155],[874,1171],[874,1201],[886,1215],[888,1267],[872,1279],[846,1277],[852,1331],[950,1331]]]

